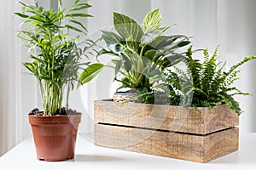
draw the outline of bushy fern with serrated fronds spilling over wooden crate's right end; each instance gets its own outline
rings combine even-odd
[[[240,72],[237,68],[249,60],[256,59],[256,56],[246,57],[242,59],[236,65],[230,67],[229,71],[224,71],[226,62],[218,62],[218,48],[215,49],[212,56],[209,55],[208,49],[203,50],[204,59],[201,62],[199,59],[193,59],[192,47],[190,47],[186,53],[186,64],[192,77],[192,106],[194,107],[211,107],[214,105],[226,104],[231,110],[236,111],[238,115],[242,113],[239,103],[234,99],[235,95],[249,95],[243,93],[241,90],[234,86],[234,82],[238,80],[237,74]],[[177,75],[177,73],[171,72],[170,74]],[[189,75],[187,75],[189,77]],[[170,76],[173,79],[173,76]],[[183,77],[184,78],[184,77]],[[169,79],[171,80],[171,78]],[[176,81],[178,79],[176,78]],[[189,81],[186,79],[186,81]],[[171,81],[169,81],[171,82]],[[176,88],[180,90],[180,82],[177,84],[169,85],[170,89]],[[182,90],[181,90],[182,91]],[[185,94],[171,90],[173,98],[178,99],[173,101],[171,105],[177,105],[181,98],[184,98]]]

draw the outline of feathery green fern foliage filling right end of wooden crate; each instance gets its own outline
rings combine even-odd
[[[249,60],[256,59],[256,56],[245,57],[231,66],[230,70],[224,71],[226,62],[218,62],[218,48],[212,56],[209,55],[207,48],[204,49],[202,61],[194,59],[192,54],[192,47],[190,47],[184,59],[187,65],[186,71],[175,67],[175,71],[169,71],[166,74],[168,78],[165,83],[170,89],[170,105],[212,107],[225,104],[240,115],[242,111],[234,96],[250,94],[243,93],[234,86],[234,82],[239,79],[238,67]]]

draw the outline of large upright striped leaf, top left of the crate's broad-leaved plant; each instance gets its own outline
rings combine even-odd
[[[119,32],[121,37],[132,37],[134,41],[140,42],[143,36],[143,30],[141,26],[137,24],[135,20],[125,14],[113,13],[113,26],[116,31]]]

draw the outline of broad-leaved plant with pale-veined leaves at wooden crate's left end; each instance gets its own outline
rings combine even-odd
[[[114,31],[102,31],[107,48],[99,55],[112,54],[115,81],[122,86],[143,94],[143,103],[154,102],[154,85],[162,78],[166,68],[183,59],[177,48],[188,45],[189,38],[183,35],[163,36],[170,26],[160,27],[160,10],[149,12],[140,26],[125,14],[113,13]],[[118,78],[120,73],[123,77]]]

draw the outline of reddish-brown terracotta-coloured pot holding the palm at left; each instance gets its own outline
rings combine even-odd
[[[72,159],[80,121],[81,113],[70,116],[29,115],[38,160]]]

